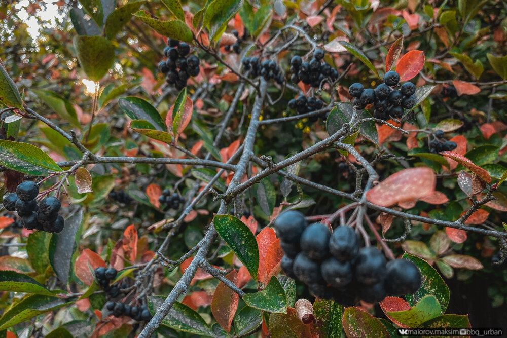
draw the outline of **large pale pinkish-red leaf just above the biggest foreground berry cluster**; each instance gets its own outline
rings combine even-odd
[[[366,199],[371,203],[388,207],[399,202],[431,195],[436,184],[437,176],[430,168],[404,169],[370,189],[366,193]]]

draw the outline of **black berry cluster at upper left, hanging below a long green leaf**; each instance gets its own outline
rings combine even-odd
[[[185,42],[168,39],[168,46],[164,48],[164,54],[167,60],[160,61],[159,69],[166,74],[166,81],[169,85],[174,85],[177,90],[182,90],[187,86],[187,80],[192,76],[199,75],[199,58],[195,55],[189,55],[190,45]]]

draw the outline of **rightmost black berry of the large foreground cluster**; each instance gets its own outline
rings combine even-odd
[[[421,286],[421,272],[411,260],[394,259],[386,268],[385,286],[390,294],[412,294]]]

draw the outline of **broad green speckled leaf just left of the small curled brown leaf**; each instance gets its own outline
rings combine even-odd
[[[257,276],[254,278],[257,278]],[[271,276],[271,280],[263,290],[245,294],[243,301],[252,308],[266,312],[287,312],[287,297],[283,287],[275,276]]]

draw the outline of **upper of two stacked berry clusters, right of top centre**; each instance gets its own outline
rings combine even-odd
[[[316,49],[313,52],[313,59],[310,62],[303,62],[301,56],[296,55],[291,59],[291,81],[299,83],[302,81],[306,85],[319,88],[324,79],[336,81],[338,79],[338,70],[332,68],[329,63],[322,63],[324,51]]]

